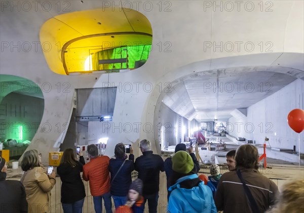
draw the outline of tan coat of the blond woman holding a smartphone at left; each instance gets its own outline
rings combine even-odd
[[[49,179],[45,169],[39,166],[24,172],[20,181],[25,188],[28,212],[50,211],[50,192],[56,180]]]

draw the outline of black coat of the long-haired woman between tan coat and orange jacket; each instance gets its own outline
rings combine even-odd
[[[67,163],[61,163],[57,167],[57,173],[62,182],[62,203],[73,203],[86,197],[85,186],[80,176],[83,171],[83,164],[85,164],[83,156],[80,156],[80,161],[76,161],[77,165],[75,167]]]

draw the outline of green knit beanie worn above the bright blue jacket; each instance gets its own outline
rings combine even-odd
[[[172,157],[172,169],[177,173],[188,174],[194,168],[192,157],[185,151],[178,151]]]

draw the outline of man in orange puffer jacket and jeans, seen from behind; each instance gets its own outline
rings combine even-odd
[[[91,144],[87,148],[90,162],[83,167],[83,179],[90,181],[90,190],[93,196],[96,213],[102,212],[102,198],[106,213],[112,213],[110,194],[110,176],[108,156],[98,156],[98,148]]]

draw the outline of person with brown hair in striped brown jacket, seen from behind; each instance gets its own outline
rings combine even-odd
[[[265,212],[276,203],[277,185],[258,172],[258,151],[250,144],[237,149],[236,170],[224,173],[215,204],[225,213]]]

